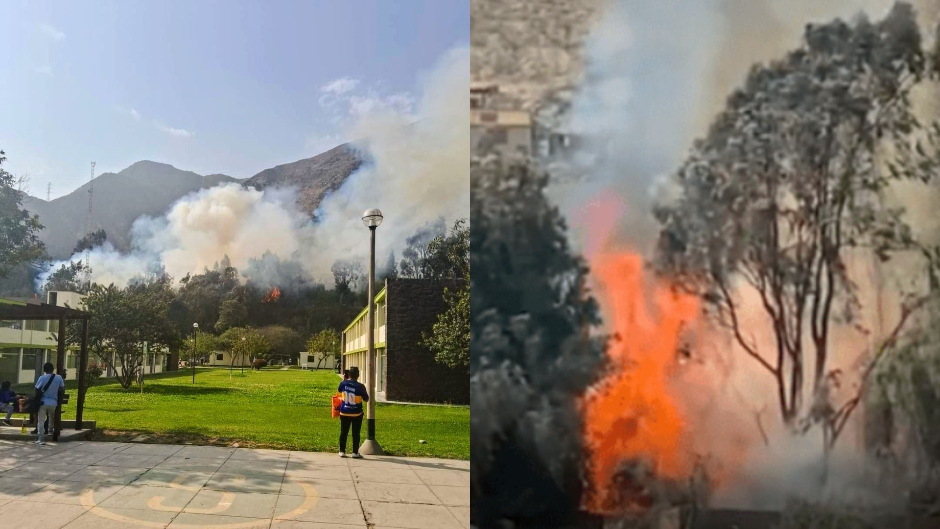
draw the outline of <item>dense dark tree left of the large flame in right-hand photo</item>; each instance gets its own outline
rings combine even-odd
[[[555,526],[582,496],[575,403],[603,348],[587,338],[598,322],[587,267],[547,182],[526,164],[471,164],[470,495],[480,527]]]

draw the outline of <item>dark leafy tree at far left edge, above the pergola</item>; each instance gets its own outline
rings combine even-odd
[[[0,151],[0,166],[7,161],[5,154]],[[21,207],[24,194],[16,185],[13,175],[0,167],[0,279],[19,264],[38,267],[46,254],[38,235],[42,230],[39,216]]]

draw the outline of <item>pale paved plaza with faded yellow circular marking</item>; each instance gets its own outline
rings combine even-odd
[[[0,440],[0,525],[15,529],[451,529],[469,505],[469,461]]]

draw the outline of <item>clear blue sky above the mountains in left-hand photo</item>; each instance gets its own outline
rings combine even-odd
[[[244,178],[410,111],[468,0],[4,2],[0,150],[30,194],[143,159]]]

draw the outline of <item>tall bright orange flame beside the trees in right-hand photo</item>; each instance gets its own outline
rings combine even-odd
[[[595,235],[614,220],[607,215],[612,205],[595,203],[600,206],[594,212],[598,222],[590,226]],[[624,498],[624,485],[618,484],[623,464],[643,461],[666,479],[694,470],[682,399],[670,379],[678,366],[683,329],[696,322],[699,304],[665,281],[645,279],[639,254],[599,251],[603,243],[596,237],[589,246],[595,251],[591,274],[613,338],[606,351],[607,376],[580,402],[587,448],[584,506],[609,514],[645,506],[638,490]]]

